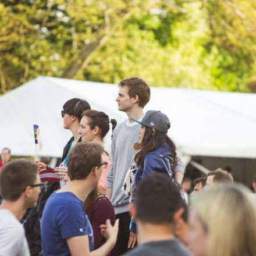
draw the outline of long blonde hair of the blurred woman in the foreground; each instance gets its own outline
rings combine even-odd
[[[207,232],[207,256],[253,256],[256,252],[256,198],[239,184],[212,187],[192,198]]]

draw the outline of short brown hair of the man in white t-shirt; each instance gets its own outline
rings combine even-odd
[[[0,194],[4,200],[17,201],[27,186],[35,183],[37,165],[25,159],[15,160],[3,166],[0,173]]]

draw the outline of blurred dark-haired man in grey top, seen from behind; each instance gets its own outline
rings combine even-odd
[[[162,173],[151,173],[138,185],[130,213],[137,222],[139,244],[126,256],[187,256],[175,238],[175,223],[183,214],[183,199],[176,184]]]

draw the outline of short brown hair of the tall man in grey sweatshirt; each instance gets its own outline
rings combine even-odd
[[[128,94],[130,98],[134,98],[135,95],[138,95],[138,105],[141,108],[144,108],[148,101],[150,101],[150,87],[139,77],[134,76],[123,79],[118,85],[128,87]]]

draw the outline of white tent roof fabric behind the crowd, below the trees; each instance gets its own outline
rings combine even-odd
[[[41,156],[61,157],[71,137],[63,129],[61,110],[70,98],[86,99],[92,109],[118,122],[118,86],[40,76],[0,97],[0,149],[34,155],[33,124],[40,126]],[[170,137],[188,156],[256,158],[256,94],[151,87],[145,107],[169,116]],[[110,148],[111,132],[106,138]]]

